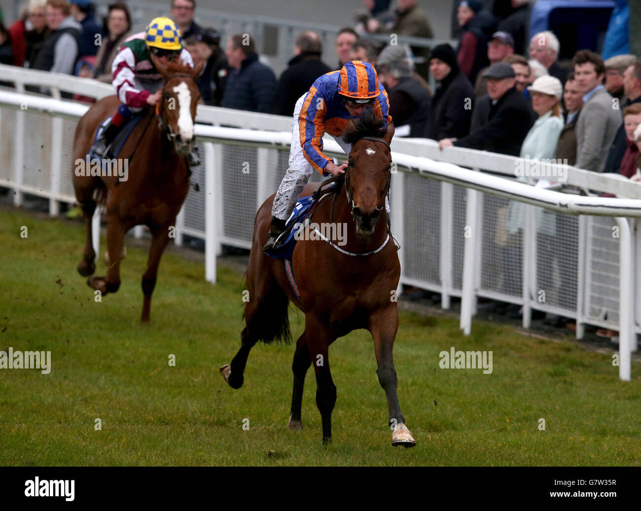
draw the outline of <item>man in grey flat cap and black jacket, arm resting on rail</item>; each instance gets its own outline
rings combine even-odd
[[[492,100],[488,121],[463,138],[444,138],[444,147],[469,147],[503,155],[519,156],[520,147],[533,125],[528,104],[515,87],[515,74],[506,62],[497,62],[483,73]]]

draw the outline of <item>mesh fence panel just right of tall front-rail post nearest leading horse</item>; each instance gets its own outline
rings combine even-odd
[[[479,294],[499,294],[506,301],[522,297],[523,228],[514,222],[508,225],[510,207],[520,206],[522,203],[483,194]]]

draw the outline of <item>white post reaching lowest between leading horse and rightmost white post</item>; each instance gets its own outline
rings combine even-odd
[[[470,235],[465,237],[463,248],[463,292],[461,296],[461,322],[460,329],[464,335],[472,331],[472,312],[474,310],[474,240],[478,235],[478,217],[476,216],[479,192],[467,188],[467,201],[465,201],[465,226],[469,227]]]

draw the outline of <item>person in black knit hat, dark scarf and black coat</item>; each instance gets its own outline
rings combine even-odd
[[[432,98],[426,138],[465,137],[470,131],[474,90],[458,69],[456,54],[449,44],[435,46],[429,56],[429,72],[437,81]]]

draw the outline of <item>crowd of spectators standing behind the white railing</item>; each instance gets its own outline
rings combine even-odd
[[[249,34],[221,33],[194,21],[195,0],[171,0],[207,105],[291,116],[297,99],[322,74],[346,62],[371,63],[388,94],[397,136],[431,138],[468,147],[567,161],[592,172],[639,179],[641,61],[630,54],[603,60],[579,49],[559,62],[552,31],[528,40],[528,0],[454,2],[458,45],[381,44],[373,34],[433,38],[428,7],[417,0],[365,0],[353,27],[338,31],[336,60],[323,62],[322,38],[301,31],[287,69],[277,78]],[[0,22],[0,63],[76,74],[110,83],[112,62],[131,37],[126,3],[110,4],[96,22],[90,0],[28,0],[8,28]],[[392,38],[390,38],[392,39]],[[433,90],[428,83],[435,84]],[[92,101],[90,98],[76,98]],[[509,212],[510,226],[520,213]]]

